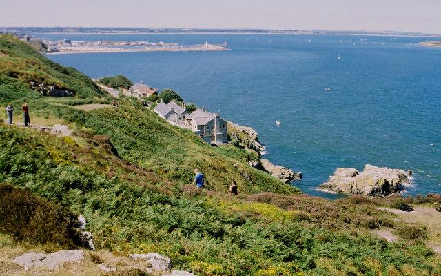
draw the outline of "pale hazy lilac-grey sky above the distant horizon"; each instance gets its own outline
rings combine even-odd
[[[441,0],[0,0],[0,26],[371,30],[441,34]]]

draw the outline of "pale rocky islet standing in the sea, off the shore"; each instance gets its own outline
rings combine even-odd
[[[366,165],[363,172],[355,168],[337,168],[328,181],[319,186],[329,193],[386,196],[398,193],[409,185],[411,172]]]

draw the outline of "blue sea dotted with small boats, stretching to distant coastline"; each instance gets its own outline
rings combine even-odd
[[[338,167],[413,170],[409,195],[441,193],[441,48],[424,37],[39,34],[71,40],[229,44],[226,52],[49,55],[90,77],[121,74],[251,126],[265,158],[303,173],[304,193]],[[439,38],[438,38],[439,40]],[[340,57],[340,58],[339,58]],[[330,88],[330,91],[325,90]],[[280,126],[276,125],[280,121]]]

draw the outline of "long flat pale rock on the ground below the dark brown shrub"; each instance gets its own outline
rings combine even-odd
[[[26,253],[15,258],[13,262],[19,266],[23,266],[25,270],[36,266],[55,269],[63,262],[79,262],[83,258],[83,250],[61,250],[50,254]]]

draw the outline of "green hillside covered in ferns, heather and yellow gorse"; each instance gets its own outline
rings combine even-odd
[[[157,252],[196,275],[441,273],[440,256],[426,245],[439,242],[440,233],[378,209],[396,208],[401,197],[329,201],[302,195],[249,166],[249,159],[258,158],[253,152],[204,144],[139,101],[121,98],[119,108],[111,108],[103,103],[112,99],[80,72],[13,37],[0,36],[0,41],[0,61],[9,68],[0,69],[2,108],[12,100],[18,117],[21,101],[28,100],[33,124],[66,124],[74,130],[57,137],[37,127],[0,123],[0,184],[83,215],[94,235],[94,254]],[[64,83],[74,96],[41,95],[27,85],[35,81],[30,72],[48,76],[39,79],[45,83]],[[206,177],[201,191],[189,185],[194,168]],[[232,181],[238,183],[238,197],[228,193]],[[406,200],[433,207],[438,197]],[[1,202],[24,208],[15,199]],[[32,221],[25,222],[28,235],[21,235],[24,228],[6,227],[0,220],[0,274],[23,271],[8,260],[26,250],[72,247],[52,237],[39,239],[41,231],[32,227],[40,226]],[[391,231],[398,240],[387,242],[373,230]],[[96,275],[88,256],[83,270],[34,275]]]

